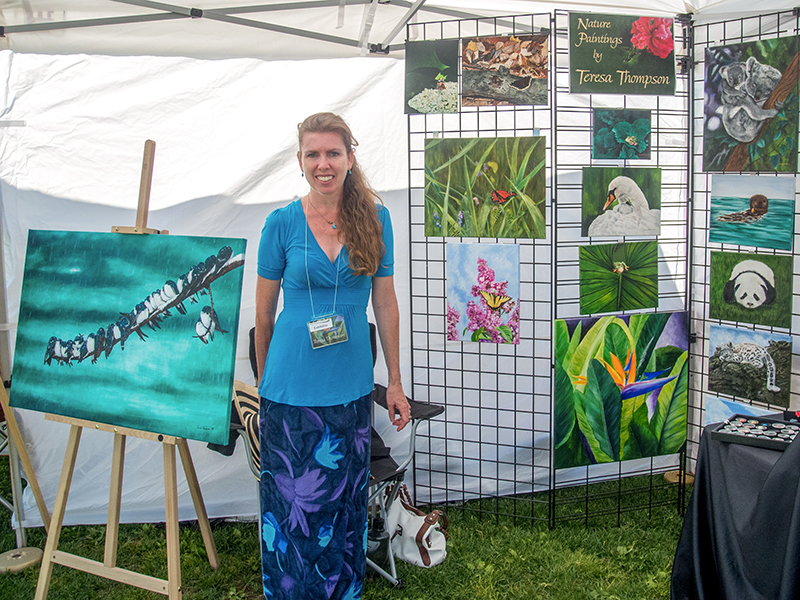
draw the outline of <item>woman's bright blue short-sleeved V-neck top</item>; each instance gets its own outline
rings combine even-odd
[[[376,277],[394,274],[394,245],[389,211],[377,206],[386,248]],[[308,333],[314,314],[334,311],[345,319],[348,339],[332,346],[313,349]],[[354,275],[347,248],[342,247],[331,262],[308,227],[303,205],[296,200],[274,210],[267,217],[258,247],[258,274],[281,279],[283,310],[267,353],[258,391],[263,398],[296,406],[334,406],[351,402],[372,391],[372,349],[369,341],[367,302],[372,277]],[[338,287],[337,280],[338,265]]]

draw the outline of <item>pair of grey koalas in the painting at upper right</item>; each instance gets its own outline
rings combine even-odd
[[[763,122],[780,111],[780,106],[765,109],[763,105],[781,80],[781,72],[751,56],[747,62],[725,65],[720,74],[720,111],[725,131],[735,140],[752,142]]]

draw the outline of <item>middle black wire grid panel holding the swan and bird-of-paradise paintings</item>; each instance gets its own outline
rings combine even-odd
[[[579,249],[587,244],[648,241],[653,236],[581,237],[582,168],[647,167],[661,169],[661,233],[658,242],[658,307],[654,312],[688,311],[689,298],[689,94],[690,74],[682,65],[691,52],[686,22],[673,23],[677,57],[674,96],[570,94],[569,13],[556,11],[554,93],[554,269],[555,317],[573,319],[580,312]],[[647,160],[592,158],[593,110],[646,109],[651,114],[651,155]],[[596,190],[598,202],[606,190]],[[641,311],[636,311],[641,312]],[[621,313],[624,314],[624,313]],[[691,351],[691,350],[690,350]],[[691,399],[689,400],[691,403]],[[623,460],[559,469],[553,502],[554,521],[589,519],[646,510],[683,499],[682,479],[670,483],[663,474],[682,468],[681,455]],[[642,477],[636,477],[642,476]],[[607,481],[599,488],[590,483]]]

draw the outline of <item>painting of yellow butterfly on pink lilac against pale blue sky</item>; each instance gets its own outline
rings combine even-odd
[[[447,244],[447,340],[519,344],[519,246]]]

